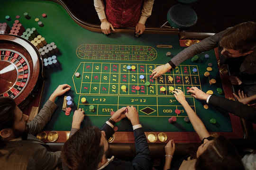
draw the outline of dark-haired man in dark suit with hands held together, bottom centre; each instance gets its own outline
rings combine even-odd
[[[115,133],[115,123],[123,118],[131,121],[134,130],[136,156],[131,162],[114,160],[114,156],[107,159],[107,140]],[[101,129],[95,126],[79,130],[72,128],[61,156],[63,170],[152,170],[146,136],[139,123],[138,112],[133,106],[117,110]]]

